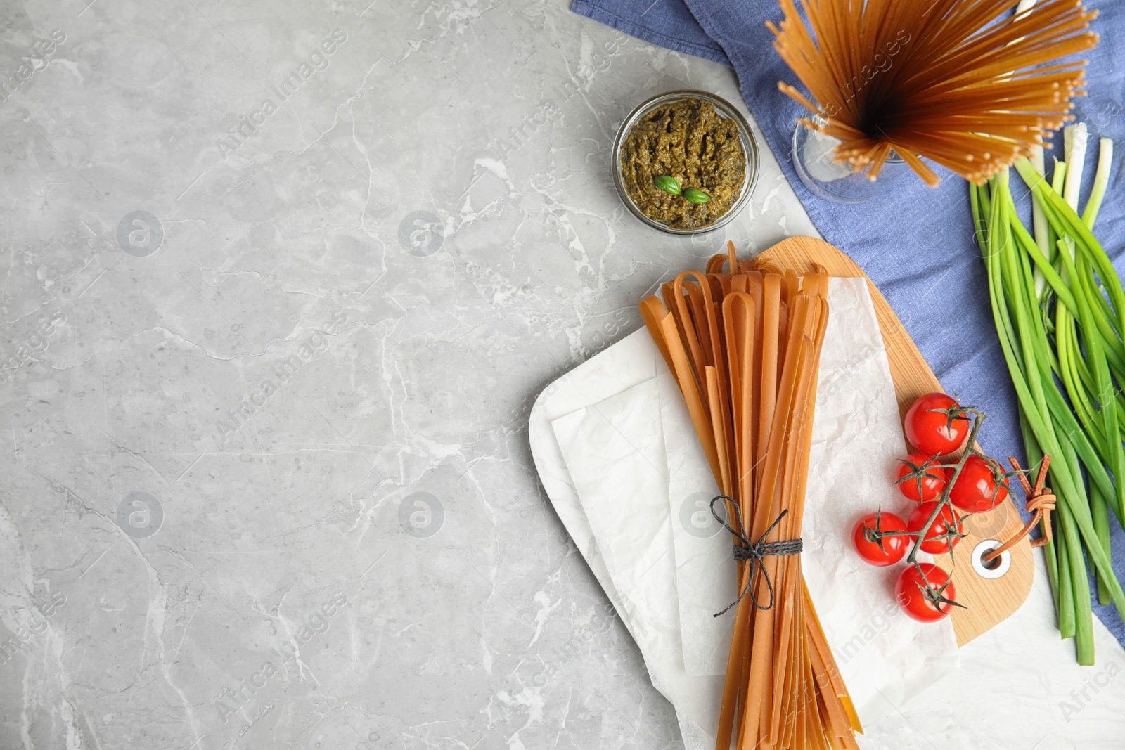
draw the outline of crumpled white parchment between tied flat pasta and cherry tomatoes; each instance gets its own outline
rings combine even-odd
[[[801,567],[825,635],[855,702],[873,722],[957,665],[948,618],[922,624],[902,614],[894,580],[852,549],[852,526],[880,506],[903,518],[912,503],[893,486],[907,445],[894,381],[864,279],[831,279],[812,421]],[[925,559],[929,559],[926,555]]]

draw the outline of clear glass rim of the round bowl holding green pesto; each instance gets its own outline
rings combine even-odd
[[[667,105],[673,101],[680,101],[681,99],[701,99],[703,101],[710,101],[714,105],[716,111],[721,116],[729,118],[735,121],[738,126],[738,133],[742,137],[742,152],[746,154],[746,174],[742,177],[742,188],[738,193],[738,198],[735,204],[730,207],[726,214],[717,218],[711,224],[701,227],[694,227],[691,229],[677,229],[670,227],[664,222],[658,222],[645,215],[644,211],[633,202],[633,199],[629,197],[626,192],[624,175],[621,166],[621,146],[624,143],[626,137],[628,137],[629,132],[632,129],[633,125],[649,114],[657,107],[662,105]],[[713,232],[721,226],[730,223],[732,218],[738,216],[739,211],[746,207],[746,204],[750,200],[750,193],[754,191],[754,186],[758,181],[758,144],[754,139],[754,133],[750,130],[749,123],[742,117],[735,107],[720,97],[713,93],[708,93],[706,91],[695,91],[693,89],[681,89],[677,91],[668,91],[667,93],[662,93],[652,97],[651,99],[646,99],[640,105],[637,106],[629,117],[621,124],[618,128],[618,136],[613,139],[613,184],[618,189],[618,195],[621,196],[621,202],[626,205],[633,216],[639,218],[645,224],[649,225],[654,229],[659,229],[660,232],[666,232],[668,234],[678,235],[694,235],[703,234],[704,232]]]

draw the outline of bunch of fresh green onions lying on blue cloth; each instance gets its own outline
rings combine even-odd
[[[1101,139],[1094,191],[1079,216],[1084,128],[1068,133],[1068,144],[1072,136],[1070,164],[1056,162],[1050,183],[1041,160],[1016,163],[1035,201],[1035,236],[1017,215],[1007,170],[971,186],[970,204],[1027,459],[1034,467],[1052,457],[1056,533],[1044,550],[1059,630],[1074,639],[1079,663],[1092,665],[1087,560],[1099,602],[1125,613],[1109,550],[1110,512],[1125,527],[1125,290],[1091,232],[1113,142]]]

